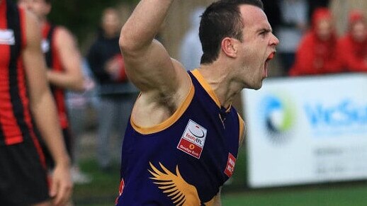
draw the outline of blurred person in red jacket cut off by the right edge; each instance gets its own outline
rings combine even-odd
[[[349,31],[338,42],[344,71],[367,71],[367,24],[361,11],[349,14]]]

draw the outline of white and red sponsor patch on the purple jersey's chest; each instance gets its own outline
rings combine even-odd
[[[205,144],[207,130],[194,122],[188,120],[184,134],[182,135],[177,149],[200,159]]]

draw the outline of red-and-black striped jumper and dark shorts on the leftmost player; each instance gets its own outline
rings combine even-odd
[[[0,0],[0,205],[30,205],[49,198],[23,67],[25,16],[11,0]]]

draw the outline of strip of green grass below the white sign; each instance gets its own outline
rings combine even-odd
[[[322,188],[315,186],[225,194],[222,195],[222,205],[362,206],[367,205],[367,185],[364,183]]]

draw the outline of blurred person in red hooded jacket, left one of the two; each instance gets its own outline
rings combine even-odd
[[[337,56],[337,35],[332,14],[327,8],[317,8],[312,25],[298,46],[290,76],[317,75],[341,71]]]

